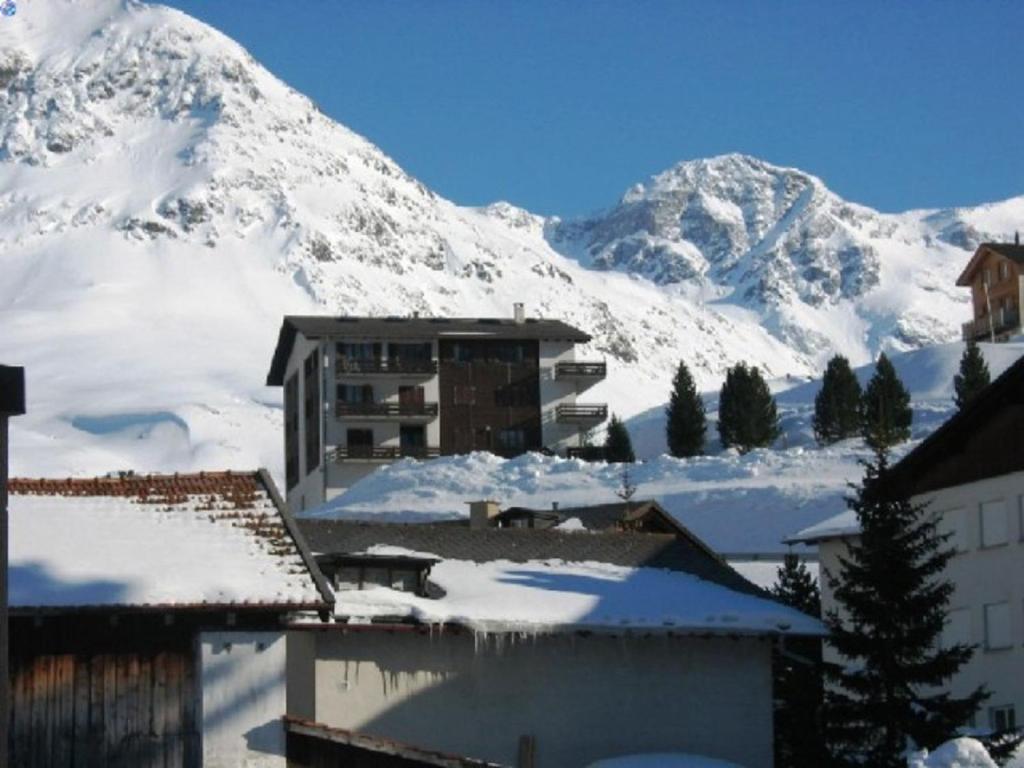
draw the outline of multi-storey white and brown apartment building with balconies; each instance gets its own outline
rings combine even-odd
[[[489,451],[569,454],[607,418],[604,379],[560,321],[287,316],[267,385],[285,389],[288,506],[329,501],[381,464]]]

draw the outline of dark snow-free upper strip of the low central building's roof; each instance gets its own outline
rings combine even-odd
[[[571,532],[552,528],[469,528],[434,523],[316,519],[299,519],[298,525],[317,554],[355,554],[374,546],[389,546],[471,562],[601,562],[684,571],[737,592],[764,596],[723,560],[694,541],[675,534]]]

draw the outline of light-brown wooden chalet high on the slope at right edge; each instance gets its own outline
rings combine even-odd
[[[964,324],[965,341],[1006,341],[1021,331],[1024,306],[1024,246],[982,243],[956,285],[971,288],[974,319]]]

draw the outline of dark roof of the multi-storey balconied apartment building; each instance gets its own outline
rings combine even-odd
[[[307,339],[437,339],[464,336],[472,339],[565,339],[586,344],[591,337],[578,328],[554,319],[527,317],[347,317],[287,315],[278,335],[268,386],[285,382],[285,369],[295,336]]]

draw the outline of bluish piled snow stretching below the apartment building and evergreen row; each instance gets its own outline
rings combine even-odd
[[[1024,343],[981,348],[993,377],[1024,354]],[[914,406],[913,439],[898,446],[896,458],[953,413],[952,377],[963,349],[959,343],[944,344],[893,357]],[[857,374],[866,381],[871,368]],[[846,511],[848,483],[859,481],[858,462],[868,456],[859,439],[827,447],[814,443],[810,425],[819,387],[819,382],[791,383],[777,392],[785,434],[775,447],[744,456],[732,451],[694,459],[648,456],[629,467],[637,485],[634,498],[656,499],[718,552],[784,551],[783,540]],[[657,428],[664,431],[664,417]],[[709,436],[713,430],[710,426]],[[709,447],[714,450],[714,443]],[[537,454],[507,460],[490,454],[406,460],[381,467],[306,514],[416,521],[465,517],[466,502],[478,499],[537,508],[614,502],[623,469]]]

